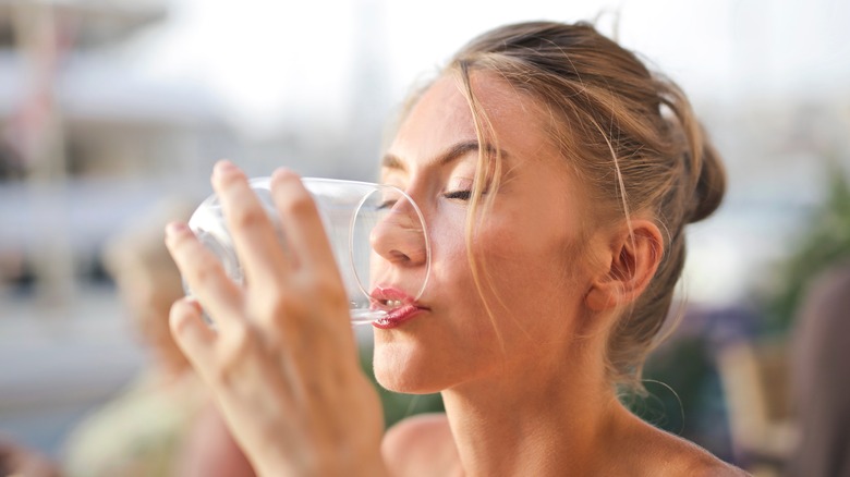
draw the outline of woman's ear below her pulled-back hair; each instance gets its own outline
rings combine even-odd
[[[651,220],[633,219],[610,235],[605,267],[591,284],[585,303],[595,311],[627,305],[641,296],[664,255],[664,240]]]

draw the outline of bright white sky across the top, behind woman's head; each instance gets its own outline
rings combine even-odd
[[[352,85],[364,78],[396,102],[493,26],[595,17],[697,105],[848,96],[843,0],[173,0],[134,58],[153,78],[203,83],[235,124],[262,133],[292,118],[344,117]]]

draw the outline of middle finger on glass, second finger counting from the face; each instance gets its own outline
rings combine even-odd
[[[278,283],[289,266],[271,219],[245,174],[233,163],[219,161],[212,173],[212,186],[221,201],[246,282]]]

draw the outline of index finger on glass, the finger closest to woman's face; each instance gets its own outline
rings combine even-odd
[[[286,231],[287,244],[299,261],[316,267],[318,272],[337,273],[318,208],[301,179],[291,171],[278,169],[271,175],[271,196]]]

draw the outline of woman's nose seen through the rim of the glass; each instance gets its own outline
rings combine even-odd
[[[413,267],[428,260],[428,242],[421,216],[406,198],[385,207],[369,235],[372,248],[387,261]]]

